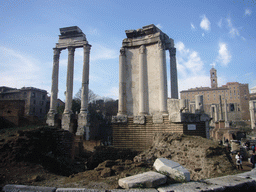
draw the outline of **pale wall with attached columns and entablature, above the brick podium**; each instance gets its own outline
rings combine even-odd
[[[174,69],[172,96],[177,98],[178,92],[173,40],[155,25],[125,32],[119,57],[118,116],[168,114],[166,50]]]

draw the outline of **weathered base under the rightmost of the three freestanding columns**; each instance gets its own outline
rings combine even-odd
[[[78,114],[78,127],[76,132],[77,136],[83,136],[86,140],[90,139],[88,116],[89,114],[85,111]]]

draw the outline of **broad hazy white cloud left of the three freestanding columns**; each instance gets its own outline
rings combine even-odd
[[[30,55],[3,46],[0,46],[0,57],[1,85],[50,90],[51,74],[46,72],[51,67],[50,63],[47,63],[49,66],[43,65]]]

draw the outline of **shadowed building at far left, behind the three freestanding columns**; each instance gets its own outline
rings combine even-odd
[[[37,89],[34,87],[23,87],[21,89],[5,86],[0,87],[0,102],[2,106],[0,109],[1,116],[2,114],[7,114],[6,111],[9,111],[9,116],[12,116],[11,113],[14,111],[14,107],[12,106],[14,105],[4,104],[19,103],[19,105],[21,105],[22,102],[18,101],[23,101],[24,103],[23,107],[15,107],[23,110],[17,113],[22,116],[34,116],[42,119],[45,118],[49,110],[49,100],[47,98],[46,90]],[[15,116],[15,114],[13,114],[13,116]]]

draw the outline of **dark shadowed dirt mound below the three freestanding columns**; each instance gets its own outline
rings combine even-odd
[[[60,175],[71,175],[77,170],[68,153],[73,135],[68,131],[42,127],[18,131],[0,143],[1,166],[20,162],[40,164],[44,169]]]

